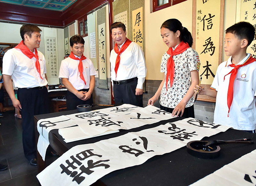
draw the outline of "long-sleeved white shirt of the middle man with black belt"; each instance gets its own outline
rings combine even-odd
[[[123,43],[124,44],[124,43]],[[122,47],[123,44],[120,46]],[[143,89],[143,83],[146,78],[147,68],[144,58],[144,53],[137,43],[130,43],[130,45],[120,54],[120,63],[115,72],[117,54],[114,49],[110,53],[110,66],[111,66],[111,82],[113,86],[114,81],[127,80],[138,77],[137,87]]]

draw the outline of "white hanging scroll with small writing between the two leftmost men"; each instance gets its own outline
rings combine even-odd
[[[44,46],[48,85],[59,84],[56,28],[44,27]]]

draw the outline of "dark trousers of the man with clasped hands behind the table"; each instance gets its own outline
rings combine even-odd
[[[81,90],[78,90],[78,91],[86,91],[86,92],[88,92],[89,89],[81,89]],[[72,92],[69,92],[69,91],[67,92],[66,99],[67,99],[67,110],[68,111],[76,110],[76,106],[77,105],[81,105],[81,104],[92,105],[92,103],[93,103],[92,95],[91,95],[90,99],[88,99],[86,101],[83,101],[82,99],[79,99],[78,97],[76,97],[75,94],[73,94]]]

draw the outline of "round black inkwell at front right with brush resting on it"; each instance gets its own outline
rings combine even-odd
[[[188,153],[192,156],[203,158],[203,159],[212,159],[220,155],[220,147],[217,145],[205,144],[209,141],[190,141],[187,143]]]

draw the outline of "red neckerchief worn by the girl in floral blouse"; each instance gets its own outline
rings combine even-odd
[[[168,78],[170,76],[170,88],[172,87],[172,82],[173,82],[173,77],[174,77],[174,61],[172,56],[181,54],[185,50],[189,48],[188,43],[185,43],[184,41],[181,41],[180,44],[172,51],[172,47],[167,50],[167,54],[171,55],[169,59],[167,60],[167,74],[166,74],[166,92],[167,92],[167,83],[168,83]],[[165,93],[166,94],[166,93]]]

